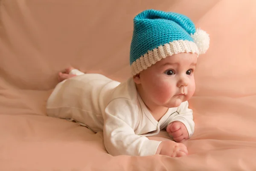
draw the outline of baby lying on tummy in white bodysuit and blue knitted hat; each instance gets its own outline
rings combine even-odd
[[[188,100],[195,92],[198,55],[208,48],[209,35],[188,17],[145,10],[134,17],[132,77],[119,83],[70,67],[58,75],[61,82],[47,101],[47,114],[103,131],[113,156],[186,156],[180,142],[195,127]],[[174,141],[152,137],[163,129]]]

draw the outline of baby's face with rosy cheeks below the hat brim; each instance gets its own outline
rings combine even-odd
[[[195,93],[197,54],[179,53],[158,61],[140,72],[147,98],[164,107],[178,107]]]

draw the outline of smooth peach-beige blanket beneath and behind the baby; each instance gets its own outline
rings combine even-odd
[[[130,76],[133,17],[145,9],[186,14],[211,38],[186,157],[112,157],[102,133],[45,113],[65,67]],[[0,0],[0,171],[255,171],[255,9],[255,0]]]

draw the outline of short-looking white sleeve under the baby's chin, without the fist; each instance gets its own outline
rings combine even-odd
[[[180,121],[186,126],[189,133],[189,138],[193,135],[195,130],[195,122],[193,121],[193,110],[189,109],[188,101],[184,101],[179,107],[177,107],[177,112],[175,113],[175,116],[171,117],[168,125],[175,121]]]

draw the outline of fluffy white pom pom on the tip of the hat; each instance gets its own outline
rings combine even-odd
[[[210,44],[210,38],[207,32],[204,30],[196,29],[195,33],[191,37],[194,39],[196,46],[198,46],[199,54],[203,54],[207,51]]]

